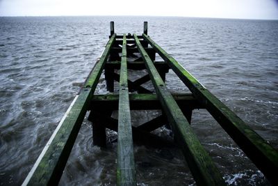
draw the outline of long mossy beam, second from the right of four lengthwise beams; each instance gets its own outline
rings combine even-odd
[[[221,173],[216,168],[206,150],[200,144],[193,129],[190,127],[186,117],[183,116],[181,109],[175,102],[171,93],[167,90],[163,79],[159,76],[154,63],[140,44],[136,34],[133,34],[138,50],[145,61],[149,76],[152,79],[154,88],[167,115],[172,130],[179,139],[179,146],[183,150],[190,171],[198,185],[225,185]]]

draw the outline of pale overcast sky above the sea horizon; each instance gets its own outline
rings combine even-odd
[[[153,15],[278,20],[278,0],[0,0],[0,16]]]

